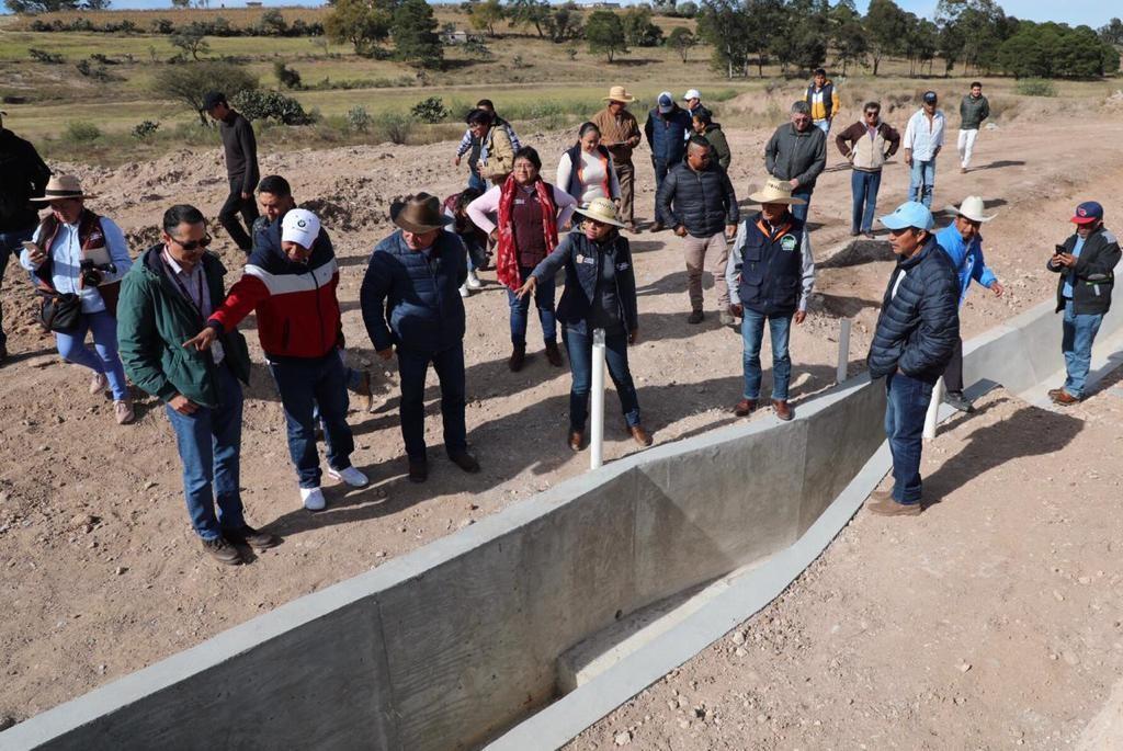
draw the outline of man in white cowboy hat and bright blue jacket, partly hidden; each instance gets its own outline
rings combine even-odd
[[[935,241],[948,254],[951,265],[956,267],[956,273],[959,275],[960,306],[967,300],[967,291],[971,286],[971,280],[990,290],[996,297],[1001,297],[1002,293],[1005,292],[1002,284],[998,283],[998,277],[983,258],[980,228],[994,219],[994,217],[987,217],[983,213],[984,207],[983,199],[978,195],[968,195],[958,207],[947,207],[946,211],[952,214],[955,220],[935,233]],[[956,342],[951,360],[948,361],[948,369],[943,372],[943,385],[947,388],[944,401],[948,404],[960,412],[973,410],[971,403],[964,397],[962,338]]]

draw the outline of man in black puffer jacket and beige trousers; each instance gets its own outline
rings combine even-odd
[[[691,297],[688,323],[701,323],[702,269],[705,256],[711,253],[713,286],[718,292],[718,310],[723,326],[732,326],[729,313],[729,286],[725,284],[725,264],[729,260],[728,238],[737,231],[741,214],[737,194],[729,175],[713,158],[713,147],[700,136],[691,138],[686,159],[664,177],[656,199],[658,221],[675,228],[684,238],[686,256],[686,291]]]

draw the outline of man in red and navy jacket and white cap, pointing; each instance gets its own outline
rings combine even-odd
[[[355,440],[347,424],[347,375],[339,358],[343,324],[336,287],[339,267],[327,231],[305,209],[292,209],[262,227],[245,275],[230,289],[193,344],[207,349],[257,311],[257,332],[284,405],[289,454],[309,511],[323,510],[320,457],[312,416],[319,405],[328,447],[328,476],[355,487],[366,475],[351,466]]]

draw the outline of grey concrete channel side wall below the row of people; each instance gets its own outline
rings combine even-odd
[[[1120,328],[1113,313],[1102,336]],[[970,342],[968,383],[1061,365],[1041,305]],[[783,550],[882,445],[866,376],[612,462],[0,733],[0,749],[466,749],[556,696],[621,616]]]

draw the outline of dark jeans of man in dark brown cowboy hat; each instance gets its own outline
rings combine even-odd
[[[438,352],[398,348],[398,374],[402,384],[402,441],[410,461],[426,460],[424,378],[429,363],[440,382],[440,416],[445,424],[445,451],[468,448],[464,427],[464,342]]]

